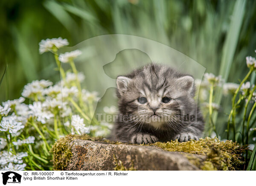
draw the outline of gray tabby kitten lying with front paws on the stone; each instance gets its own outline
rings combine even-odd
[[[204,119],[197,109],[194,78],[160,64],[118,76],[119,118],[112,140],[151,143],[198,140]]]

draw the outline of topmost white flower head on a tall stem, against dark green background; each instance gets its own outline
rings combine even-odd
[[[48,38],[46,40],[43,39],[39,43],[39,53],[42,54],[54,49],[54,47],[61,48],[62,46],[67,46],[68,44],[67,39],[62,39],[61,37],[52,39]]]

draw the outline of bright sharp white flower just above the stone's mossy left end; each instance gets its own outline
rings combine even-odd
[[[71,129],[72,134],[87,134],[89,133],[89,128],[85,126],[84,119],[82,119],[79,115],[73,115],[71,117]]]

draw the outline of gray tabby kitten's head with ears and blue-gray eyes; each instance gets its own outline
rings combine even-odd
[[[150,65],[135,72],[134,76],[119,76],[120,112],[134,116],[133,123],[145,123],[154,128],[181,127],[180,115],[186,113],[193,102],[194,79],[175,73],[158,65],[152,69]]]

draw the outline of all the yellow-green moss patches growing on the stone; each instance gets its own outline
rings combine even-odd
[[[108,144],[123,144],[122,142],[111,142],[103,137],[90,137],[89,135],[67,135],[59,139],[52,146],[53,153],[53,166],[55,170],[65,170],[71,160],[72,152],[71,147],[68,145],[74,139],[83,139],[91,141],[100,141]],[[130,144],[135,145],[135,144]],[[144,145],[144,144],[143,144]],[[180,151],[186,154],[189,161],[198,166],[202,170],[241,170],[244,165],[241,154],[247,149],[241,147],[238,143],[227,140],[221,142],[217,138],[200,139],[198,141],[190,140],[188,142],[156,142],[154,144],[147,144],[150,146],[157,146],[166,151]],[[202,160],[192,154],[205,155]],[[115,170],[133,170],[134,166],[123,166],[120,160],[115,159]],[[132,164],[132,163],[131,163]]]

